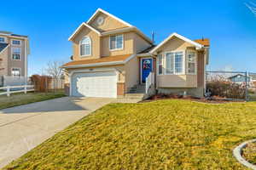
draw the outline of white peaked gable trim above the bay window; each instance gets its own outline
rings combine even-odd
[[[195,45],[196,48],[203,48],[204,46],[198,42],[194,42],[192,40],[190,40],[187,37],[183,37],[179,34],[177,34],[176,32],[172,33],[169,37],[167,37],[164,41],[160,42],[160,44],[158,44],[155,48],[153,48],[151,51],[149,51],[149,53],[153,54],[158,48],[160,48],[161,46],[163,46],[166,42],[168,42],[172,37],[177,37],[179,39],[182,39],[185,42],[189,42],[193,45]]]

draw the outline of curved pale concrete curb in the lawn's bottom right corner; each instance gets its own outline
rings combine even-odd
[[[233,150],[233,156],[236,157],[236,160],[239,161],[242,165],[252,168],[253,170],[256,170],[256,166],[253,165],[252,163],[249,163],[246,161],[242,156],[241,156],[241,150],[247,146],[248,143],[254,143],[256,142],[256,139],[253,140],[248,140],[238,146]]]

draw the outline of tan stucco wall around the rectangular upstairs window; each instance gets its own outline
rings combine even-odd
[[[123,54],[133,54],[133,41],[134,32],[123,33],[124,35],[124,48],[118,50],[109,49],[109,36],[102,37],[102,56],[113,56],[113,55],[123,55]]]

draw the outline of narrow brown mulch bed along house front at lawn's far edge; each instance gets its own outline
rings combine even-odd
[[[155,94],[154,96],[150,97],[149,99],[143,100],[142,102],[150,102],[150,101],[160,100],[160,99],[189,99],[192,101],[212,103],[212,104],[223,104],[223,103],[243,101],[243,100],[235,100],[235,99],[225,99],[218,96],[212,96],[211,99],[206,99],[206,98],[196,98],[189,95],[184,96],[184,95],[178,95],[178,94]]]

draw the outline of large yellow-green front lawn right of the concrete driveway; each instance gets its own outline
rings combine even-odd
[[[4,169],[246,169],[232,156],[256,137],[256,103],[110,104]]]

